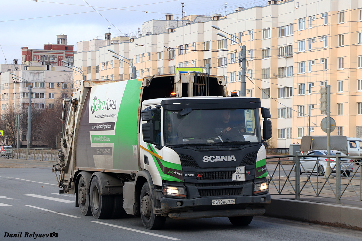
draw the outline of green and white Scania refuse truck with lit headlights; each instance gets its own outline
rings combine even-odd
[[[147,229],[167,217],[248,225],[270,203],[270,111],[227,93],[223,77],[190,71],[84,81],[64,99],[59,193],[82,215],[138,215]]]

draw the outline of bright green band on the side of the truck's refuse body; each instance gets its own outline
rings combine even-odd
[[[133,157],[132,146],[137,145],[137,121],[142,81],[127,81],[125,92],[119,106],[114,141],[113,168],[138,169],[138,162]],[[132,164],[131,164],[132,163]]]

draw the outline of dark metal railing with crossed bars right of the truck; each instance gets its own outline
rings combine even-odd
[[[313,155],[316,160],[304,162],[311,155],[283,155],[267,157],[269,190],[280,195],[313,196],[362,202],[362,163],[359,156]],[[328,157],[330,158],[328,160]],[[342,158],[342,162],[341,162]],[[353,160],[353,162],[346,162]],[[323,164],[331,163],[332,172],[327,175]],[[348,163],[348,165],[346,165]],[[348,169],[351,168],[353,170]],[[340,171],[336,171],[340,170]],[[335,177],[334,177],[335,173]],[[343,177],[341,177],[343,176]],[[275,189],[275,190],[274,190]]]

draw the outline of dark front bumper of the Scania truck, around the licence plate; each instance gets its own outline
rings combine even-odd
[[[235,204],[211,205],[212,199],[235,199]],[[265,206],[269,203],[269,193],[256,196],[233,195],[193,199],[161,197],[161,211],[173,219],[254,216],[264,214]]]

